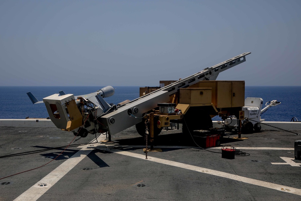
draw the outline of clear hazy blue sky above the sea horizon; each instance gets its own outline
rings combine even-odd
[[[301,1],[0,1],[0,86],[301,86]]]

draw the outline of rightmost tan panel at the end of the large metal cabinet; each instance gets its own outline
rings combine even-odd
[[[232,82],[232,107],[244,106],[245,82]]]

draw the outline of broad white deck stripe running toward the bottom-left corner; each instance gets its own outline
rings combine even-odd
[[[98,141],[105,140],[106,136],[101,135],[98,137]],[[92,142],[96,142],[93,140]],[[80,149],[73,156],[51,171],[48,175],[38,181],[35,185],[30,187],[24,193],[22,193],[19,197],[14,199],[15,201],[34,201],[39,199],[47,190],[51,188],[57,181],[59,181],[65,174],[67,174],[74,166],[76,166],[82,159],[84,159],[95,147],[84,145],[79,146]],[[38,184],[47,184],[47,186],[39,187]]]

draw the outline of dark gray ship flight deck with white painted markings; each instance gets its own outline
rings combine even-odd
[[[16,175],[0,180],[0,201],[301,199],[301,161],[294,159],[300,135],[262,130],[242,135],[245,140],[232,137],[237,135],[223,137],[222,146],[246,156],[222,158],[222,146],[202,150],[180,129],[162,130],[155,146],[162,152],[148,152],[146,159],[144,138],[130,127],[113,135],[114,143],[89,134],[57,157],[72,132],[1,127],[0,178]]]

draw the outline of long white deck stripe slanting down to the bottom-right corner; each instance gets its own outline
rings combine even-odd
[[[114,149],[111,149],[110,152],[135,157],[135,158],[138,158],[138,159],[147,160],[147,159],[145,159],[145,155],[136,154],[136,153],[132,153],[132,152],[120,151],[120,150],[114,150]],[[174,162],[174,161],[169,161],[169,160],[159,159],[159,158],[154,158],[154,157],[151,157],[151,159],[148,159],[147,161],[157,162],[157,163],[161,163],[161,164],[165,164],[165,165],[171,165],[171,166],[175,166],[175,167],[179,167],[179,168],[184,168],[184,169],[188,169],[188,170],[193,170],[193,171],[197,171],[197,172],[211,174],[211,175],[215,175],[215,176],[219,176],[219,177],[232,179],[232,180],[235,180],[235,181],[241,181],[241,182],[244,182],[244,183],[247,183],[247,184],[253,184],[253,185],[256,185],[256,186],[266,187],[266,188],[270,188],[270,189],[273,189],[273,190],[279,190],[279,191],[282,191],[282,192],[293,193],[293,194],[301,196],[301,189],[297,189],[297,188],[292,188],[292,187],[283,186],[283,185],[279,185],[279,184],[273,184],[273,183],[270,183],[270,182],[251,179],[251,178],[248,178],[248,177],[242,177],[242,176],[238,176],[238,175],[235,175],[235,174],[229,174],[229,173],[225,173],[225,172],[221,172],[221,171],[211,170],[211,169],[207,169],[207,168],[197,167],[197,166],[194,166],[194,165],[188,165],[188,164],[185,164],[185,163],[179,163],[179,162]],[[289,189],[289,190],[284,191],[283,189]]]

